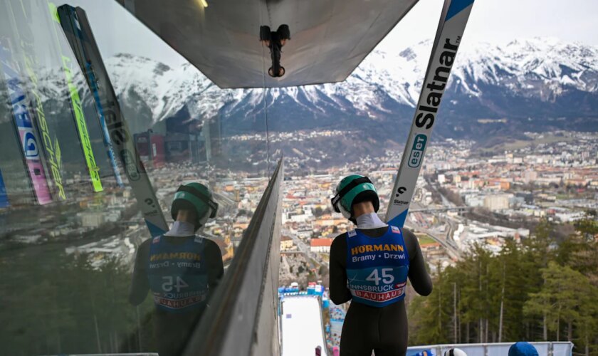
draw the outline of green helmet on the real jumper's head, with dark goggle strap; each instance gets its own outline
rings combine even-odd
[[[374,204],[374,211],[378,211],[380,201],[376,188],[368,177],[360,174],[352,174],[343,178],[336,187],[336,195],[330,202],[337,213],[342,213],[342,216],[350,219],[355,223],[353,217],[353,204],[361,203],[363,201],[372,201]]]

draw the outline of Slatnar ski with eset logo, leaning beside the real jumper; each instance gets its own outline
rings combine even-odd
[[[445,0],[385,221],[403,226],[473,0]]]

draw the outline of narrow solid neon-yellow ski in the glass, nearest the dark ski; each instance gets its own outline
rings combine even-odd
[[[73,60],[70,58],[70,56],[65,56],[64,52],[62,51],[62,43],[58,36],[58,26],[60,26],[60,19],[58,19],[56,5],[53,3],[48,3],[48,6],[52,19],[56,23],[56,26],[54,26],[56,46],[58,46],[59,51],[61,51],[59,54],[62,58],[63,72],[65,75],[66,84],[68,86],[68,92],[70,94],[70,104],[73,108],[73,115],[75,115],[75,122],[77,124],[81,147],[83,148],[83,155],[85,156],[85,163],[88,167],[93,191],[102,192],[104,189],[100,180],[100,169],[98,165],[95,164],[95,156],[93,155],[93,150],[91,147],[89,130],[87,123],[85,122],[85,115],[83,114],[83,105],[81,103],[81,98],[79,97],[79,90],[73,83]]]

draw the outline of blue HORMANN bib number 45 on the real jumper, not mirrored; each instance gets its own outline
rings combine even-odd
[[[355,302],[384,307],[402,300],[408,272],[409,255],[397,226],[380,237],[347,233],[347,286]]]

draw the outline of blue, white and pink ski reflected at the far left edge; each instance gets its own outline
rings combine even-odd
[[[33,185],[33,193],[39,204],[51,203],[52,196],[46,180],[46,171],[43,169],[41,162],[38,137],[33,129],[33,120],[31,120],[31,114],[27,108],[29,100],[27,100],[25,92],[21,88],[19,70],[12,61],[6,40],[0,42],[0,66],[2,67],[2,77],[6,81],[14,125],[21,143],[21,152],[25,159],[28,175]]]

